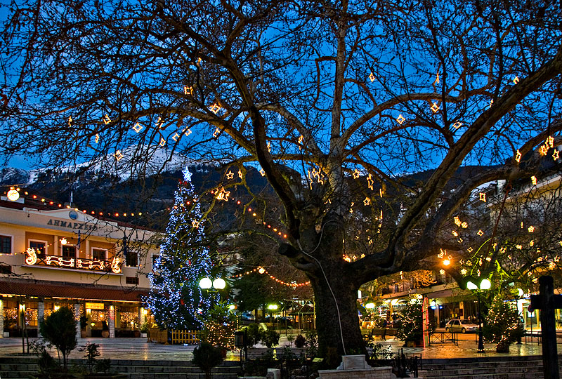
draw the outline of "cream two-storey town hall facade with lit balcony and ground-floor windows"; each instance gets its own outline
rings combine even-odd
[[[37,197],[0,197],[0,338],[37,335],[58,307],[74,311],[79,337],[140,335],[159,239]]]

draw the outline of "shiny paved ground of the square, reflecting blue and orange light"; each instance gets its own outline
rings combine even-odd
[[[473,335],[467,335],[469,339],[459,340],[458,345],[447,342],[434,344],[429,347],[403,347],[404,343],[399,340],[388,339],[386,341],[375,341],[384,347],[391,347],[393,352],[403,350],[408,356],[415,354],[422,359],[444,359],[444,358],[466,358],[466,357],[505,357],[505,356],[527,356],[541,355],[542,345],[537,343],[523,343],[521,345],[511,345],[509,353],[495,352],[495,345],[485,343],[485,352],[478,353],[475,339],[470,339]],[[30,341],[37,338],[30,338]],[[136,359],[145,361],[190,361],[193,357],[193,350],[196,345],[162,345],[148,343],[145,338],[81,338],[78,341],[77,349],[70,353],[70,358],[84,358],[84,352],[79,348],[84,347],[87,342],[100,345],[99,352],[101,358],[110,359]],[[285,335],[281,335],[280,345],[290,345]],[[257,345],[256,347],[263,347]],[[265,348],[265,347],[263,347]],[[27,349],[27,347],[26,347]],[[559,349],[562,351],[562,347]],[[27,350],[26,350],[27,351]],[[0,357],[10,357],[22,353],[21,338],[0,338]],[[56,357],[57,352],[51,349],[51,355]],[[227,360],[237,361],[240,359],[240,352],[228,352]]]

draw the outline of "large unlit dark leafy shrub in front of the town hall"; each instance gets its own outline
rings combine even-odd
[[[63,354],[63,367],[68,366],[68,354],[78,344],[74,313],[67,307],[60,307],[44,319],[39,326],[41,335]]]

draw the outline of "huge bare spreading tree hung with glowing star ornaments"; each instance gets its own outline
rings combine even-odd
[[[538,149],[560,141],[560,13],[554,1],[15,1],[1,151],[135,176],[175,153],[241,175],[259,164],[285,208],[279,253],[322,310],[320,353],[344,353],[363,346],[360,284],[458,248],[440,237],[473,189],[552,159]],[[462,166],[478,169],[459,180]]]

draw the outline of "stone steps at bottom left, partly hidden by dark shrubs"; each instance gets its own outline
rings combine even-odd
[[[0,357],[0,379],[29,378],[37,373],[37,363],[32,357]],[[70,359],[69,368],[73,365],[85,365],[83,359]],[[128,378],[135,379],[204,379],[204,373],[188,361],[111,361],[111,371],[124,373]],[[225,361],[214,368],[213,379],[236,379],[240,372],[240,362]]]

